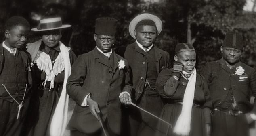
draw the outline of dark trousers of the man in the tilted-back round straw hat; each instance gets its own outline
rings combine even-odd
[[[137,105],[155,116],[160,115],[163,102],[159,95],[152,94],[145,89],[143,96],[138,99]],[[130,136],[154,136],[157,118],[139,110],[134,106],[129,107]]]

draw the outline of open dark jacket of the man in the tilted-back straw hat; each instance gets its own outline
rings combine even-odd
[[[171,67],[170,56],[168,52],[157,48],[155,45],[153,46],[155,48],[155,65],[157,68],[157,73],[159,74],[162,68]],[[135,94],[133,95],[135,95],[135,100],[138,100],[145,87],[148,65],[147,60],[143,54],[143,50],[138,47],[136,41],[130,45],[127,45],[124,58],[129,62],[133,89],[135,89],[135,91],[133,91]]]

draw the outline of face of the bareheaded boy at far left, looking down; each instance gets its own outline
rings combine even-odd
[[[29,33],[29,28],[24,26],[14,26],[10,30],[5,31],[5,41],[6,46],[10,48],[20,48],[24,45],[27,35]]]

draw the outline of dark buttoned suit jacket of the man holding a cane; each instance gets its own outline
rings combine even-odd
[[[69,122],[71,130],[92,133],[100,129],[99,121],[90,113],[89,107],[80,104],[88,93],[99,104],[102,118],[116,134],[120,133],[121,109],[119,94],[122,91],[131,93],[128,62],[112,53],[114,59],[113,71],[103,60],[103,54],[96,48],[89,53],[78,56],[73,63],[71,75],[67,81],[67,93],[76,101],[76,107]],[[104,56],[105,57],[105,56]],[[124,69],[118,69],[118,62],[124,60]]]

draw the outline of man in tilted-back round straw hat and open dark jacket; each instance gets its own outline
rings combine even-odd
[[[160,115],[163,103],[155,81],[163,67],[170,67],[169,53],[154,44],[161,31],[162,21],[157,16],[147,13],[136,16],[129,25],[130,35],[135,41],[124,52],[132,71],[133,101],[156,116]],[[153,135],[157,119],[129,107],[131,136]]]

